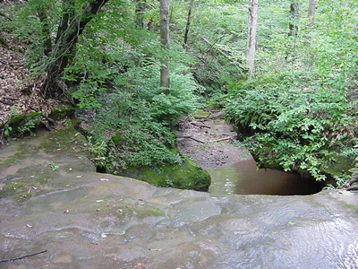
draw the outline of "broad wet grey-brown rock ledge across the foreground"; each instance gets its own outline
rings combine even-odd
[[[0,187],[21,185],[0,200],[0,260],[47,250],[0,268],[358,267],[356,193],[152,187],[94,172],[81,134],[53,135],[0,150]],[[26,178],[41,175],[48,179],[37,182],[41,191],[26,187]]]

